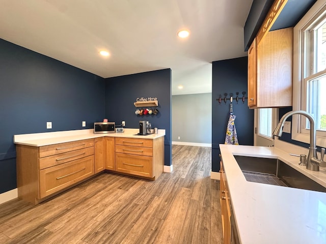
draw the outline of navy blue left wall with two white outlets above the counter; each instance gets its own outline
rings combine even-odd
[[[0,193],[16,188],[13,135],[93,128],[104,79],[0,39]],[[52,129],[46,122],[52,121]]]

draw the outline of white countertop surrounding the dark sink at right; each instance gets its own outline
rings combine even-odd
[[[326,193],[247,181],[233,155],[278,158],[326,187],[326,169],[307,170],[274,147],[220,144],[241,244],[325,244]]]

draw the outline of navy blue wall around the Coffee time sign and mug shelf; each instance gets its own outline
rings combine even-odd
[[[105,79],[105,115],[108,121],[126,128],[139,128],[139,120],[148,120],[152,128],[165,129],[165,165],[172,164],[171,69],[144,72]],[[137,98],[157,98],[157,115],[135,115]]]

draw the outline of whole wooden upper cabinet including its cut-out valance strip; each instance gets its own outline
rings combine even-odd
[[[292,106],[293,28],[269,32],[287,0],[276,0],[248,50],[248,106]]]

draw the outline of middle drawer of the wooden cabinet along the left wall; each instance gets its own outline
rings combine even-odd
[[[67,163],[76,159],[84,158],[94,154],[94,147],[87,147],[84,149],[69,151],[68,153],[52,155],[40,159],[40,169],[56,166]]]

